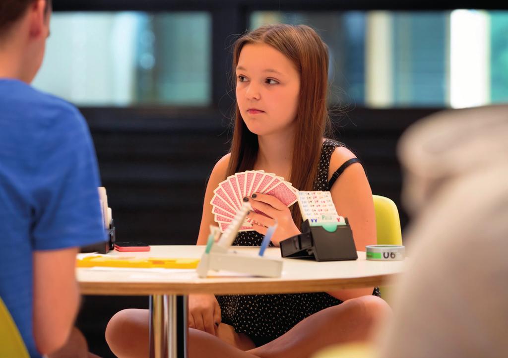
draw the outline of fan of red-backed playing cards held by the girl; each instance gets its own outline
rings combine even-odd
[[[243,198],[250,197],[253,193],[268,194],[289,207],[298,200],[297,192],[298,190],[282,177],[262,170],[251,170],[236,173],[221,182],[213,191],[214,196],[210,204],[215,221],[219,224],[220,231],[224,233],[242,206]],[[251,230],[254,230],[252,223],[246,219],[240,231]]]

